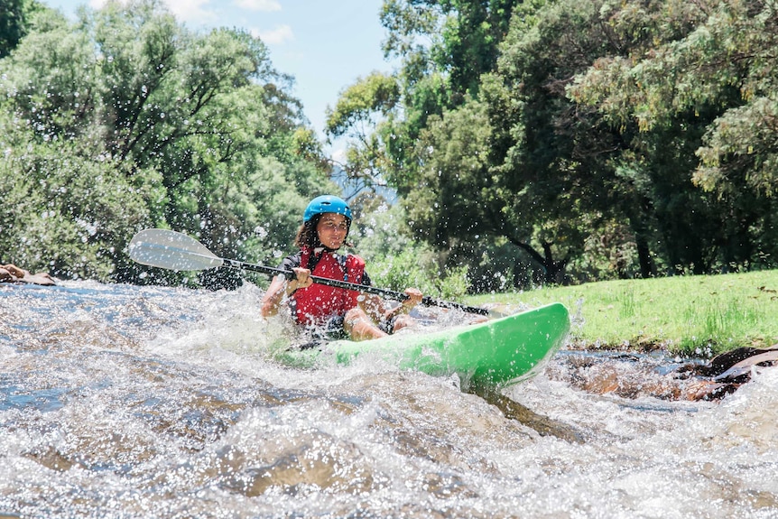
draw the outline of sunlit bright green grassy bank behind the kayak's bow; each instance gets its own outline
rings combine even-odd
[[[564,303],[584,348],[700,356],[778,343],[778,271],[620,280],[478,296],[471,304]]]

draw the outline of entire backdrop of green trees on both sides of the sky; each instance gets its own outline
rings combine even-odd
[[[275,263],[306,201],[338,190],[291,79],[247,32],[190,32],[155,0],[78,23],[5,5],[5,261],[140,281],[123,247],[156,226]],[[327,116],[348,140],[336,171],[401,197],[352,200],[351,237],[387,283],[407,269],[453,294],[465,272],[495,291],[774,266],[772,3],[386,0],[381,21],[400,68],[358,79]]]

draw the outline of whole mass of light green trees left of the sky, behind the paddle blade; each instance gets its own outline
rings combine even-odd
[[[168,282],[181,276],[144,276],[126,257],[135,231],[171,227],[263,259],[287,246],[307,199],[334,189],[300,153],[289,78],[248,33],[190,32],[153,0],[108,2],[75,24],[44,9],[30,26],[0,60],[2,195],[15,209],[0,212],[5,261]],[[228,277],[200,281],[239,283]]]

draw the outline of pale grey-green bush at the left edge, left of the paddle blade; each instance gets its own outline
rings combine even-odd
[[[7,143],[5,143],[7,145]],[[157,175],[127,180],[116,162],[94,162],[71,146],[6,148],[0,162],[5,262],[60,277],[107,279],[129,237],[150,223],[146,199]]]

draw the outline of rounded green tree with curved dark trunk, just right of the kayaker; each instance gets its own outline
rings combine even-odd
[[[454,264],[477,258],[483,237],[505,238],[542,265],[546,283],[560,283],[571,251],[556,259],[551,247],[574,246],[575,229],[559,218],[553,205],[538,210],[540,199],[548,196],[534,189],[541,184],[520,192],[506,189],[491,162],[490,116],[486,103],[471,101],[440,118],[431,117],[419,144],[423,189],[413,190],[403,202],[411,225],[425,241],[451,250],[449,261]]]

